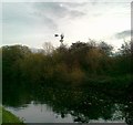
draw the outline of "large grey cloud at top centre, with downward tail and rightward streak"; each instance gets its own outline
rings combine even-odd
[[[47,27],[58,30],[58,20],[63,18],[79,18],[84,15],[82,11],[73,10],[62,2],[42,2],[33,3],[32,15],[38,17]]]

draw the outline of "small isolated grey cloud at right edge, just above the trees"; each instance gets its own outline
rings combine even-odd
[[[116,39],[123,39],[127,37],[131,37],[131,30],[125,30],[115,34]]]

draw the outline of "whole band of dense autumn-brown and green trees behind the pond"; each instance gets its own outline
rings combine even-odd
[[[132,88],[133,42],[124,42],[117,52],[93,40],[54,49],[31,51],[24,45],[2,46],[3,90],[18,85],[94,86],[98,88]],[[121,87],[120,87],[121,86]],[[131,91],[132,92],[132,91]]]

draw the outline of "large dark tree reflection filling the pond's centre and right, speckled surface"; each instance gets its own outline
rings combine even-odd
[[[47,88],[42,90],[38,97],[38,101],[50,105],[61,117],[71,114],[73,121],[80,123],[88,123],[90,119],[100,117],[111,119],[116,110],[115,102],[96,92],[94,94],[92,91]]]

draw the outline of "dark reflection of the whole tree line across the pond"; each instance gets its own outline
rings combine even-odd
[[[17,90],[13,92],[9,90],[7,94],[4,93],[3,104],[22,106],[31,101],[48,104],[52,107],[52,111],[61,115],[62,118],[71,114],[73,122],[78,123],[89,123],[91,119],[99,118],[113,121],[113,118],[115,118],[113,114],[117,110],[115,106],[116,102],[106,95],[93,92],[92,90],[80,88],[35,87],[31,90],[31,87],[17,86]],[[121,106],[121,108],[123,108],[123,106]],[[129,124],[133,123],[133,112],[131,112],[131,108],[133,108],[132,105],[129,105],[129,107],[123,111],[126,114],[125,121]]]

